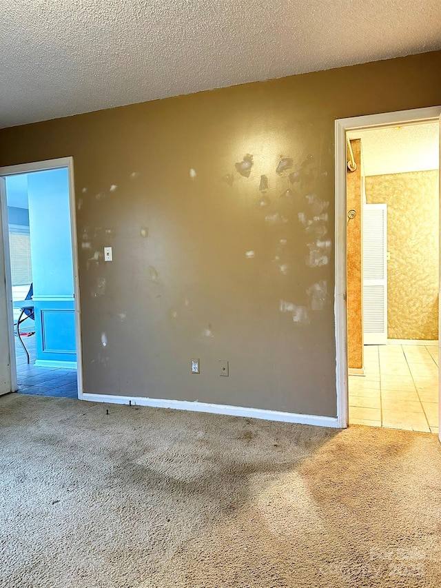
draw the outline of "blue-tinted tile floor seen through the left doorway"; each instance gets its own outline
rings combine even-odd
[[[30,354],[29,365],[23,347],[15,337],[19,394],[77,398],[76,369],[54,369],[34,365],[35,336],[24,336],[23,342]]]

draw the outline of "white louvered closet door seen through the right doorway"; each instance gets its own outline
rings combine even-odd
[[[387,205],[363,207],[363,334],[365,345],[387,344]]]

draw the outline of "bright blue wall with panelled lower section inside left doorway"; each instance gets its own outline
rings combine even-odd
[[[76,346],[68,170],[28,174],[28,199],[36,363],[73,364]]]

